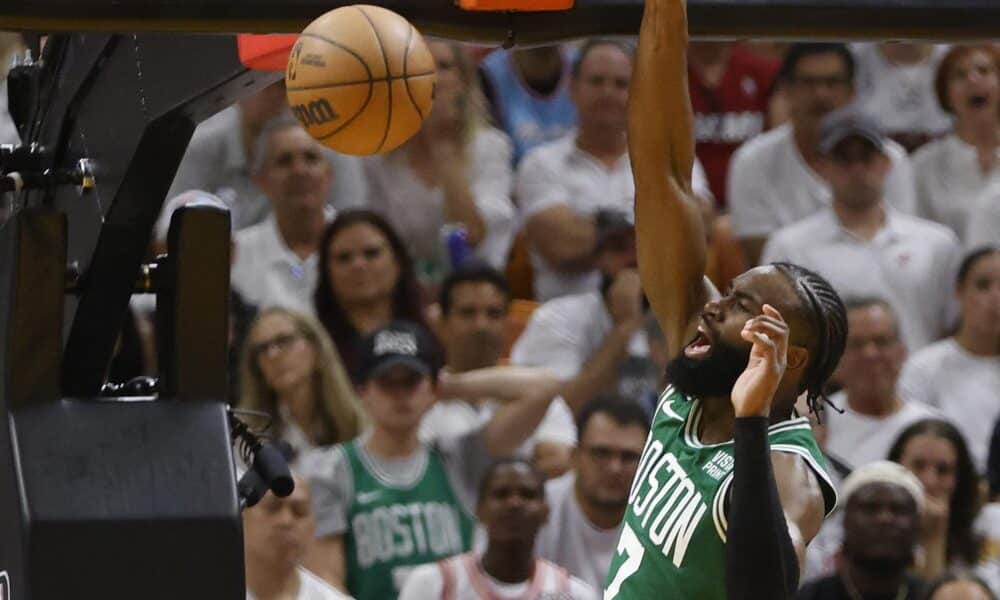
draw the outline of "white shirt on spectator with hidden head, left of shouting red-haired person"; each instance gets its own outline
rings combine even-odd
[[[916,65],[889,62],[877,43],[852,44],[851,50],[857,65],[856,103],[890,135],[938,136],[951,129],[951,117],[941,109],[934,91],[934,77],[947,46],[935,46],[930,58]]]

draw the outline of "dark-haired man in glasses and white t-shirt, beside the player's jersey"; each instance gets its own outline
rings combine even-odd
[[[596,589],[604,587],[649,419],[631,400],[603,397],[584,407],[573,470],[545,484],[549,520],[535,552]]]

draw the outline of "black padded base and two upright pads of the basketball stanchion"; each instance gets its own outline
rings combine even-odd
[[[6,332],[2,390],[13,436],[0,433],[2,485],[18,492],[0,495],[0,570],[12,598],[242,599],[221,368],[228,214],[185,208],[172,223],[158,285],[171,327],[160,331],[160,348],[173,362],[161,379],[170,393],[159,397],[60,399],[46,383],[59,381],[65,229],[61,215],[41,210],[22,211],[0,230],[3,283],[18,292],[4,320],[16,329]],[[197,340],[185,335],[195,326]],[[30,364],[22,357],[37,354],[25,347],[39,343],[49,360]],[[150,388],[136,381],[118,391]]]

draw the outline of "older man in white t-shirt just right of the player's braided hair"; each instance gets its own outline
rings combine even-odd
[[[873,298],[847,299],[847,345],[835,377],[843,390],[824,411],[824,451],[847,470],[884,459],[903,429],[934,413],[896,391],[906,348],[892,308]]]

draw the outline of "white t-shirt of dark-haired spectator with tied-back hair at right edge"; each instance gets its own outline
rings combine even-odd
[[[910,356],[899,389],[954,423],[979,472],[985,472],[993,425],[1000,417],[1000,356],[974,356],[954,338],[941,340]]]

